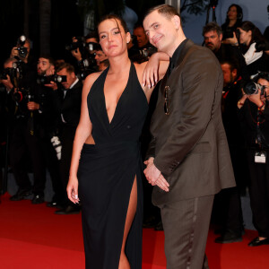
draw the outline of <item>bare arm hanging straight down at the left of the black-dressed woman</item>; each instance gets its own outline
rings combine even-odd
[[[87,106],[87,96],[93,82],[95,82],[95,80],[99,75],[100,73],[94,73],[87,76],[82,89],[81,117],[74,135],[72,161],[69,171],[69,181],[66,188],[68,198],[74,204],[79,203],[77,170],[81,157],[82,146],[83,143],[85,143],[86,139],[91,135],[91,128],[92,128]]]

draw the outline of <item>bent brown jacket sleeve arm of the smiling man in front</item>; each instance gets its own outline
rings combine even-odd
[[[165,175],[169,175],[184,160],[195,143],[203,136],[213,113],[215,91],[222,88],[222,73],[219,63],[209,52],[195,50],[187,59],[182,70],[182,91],[180,104],[182,115],[174,125],[155,156],[154,164]],[[219,105],[219,101],[216,103]],[[175,104],[174,104],[175,105]]]

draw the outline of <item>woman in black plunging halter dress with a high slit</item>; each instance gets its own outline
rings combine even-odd
[[[128,58],[126,22],[108,15],[98,30],[109,67],[83,85],[67,194],[78,203],[79,184],[86,268],[138,269],[143,216],[138,140],[153,87],[143,85],[146,63]],[[160,65],[160,77],[167,67],[168,62]]]

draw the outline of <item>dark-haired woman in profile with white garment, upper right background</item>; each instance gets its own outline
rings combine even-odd
[[[244,79],[249,79],[258,71],[269,71],[268,56],[263,50],[265,39],[261,31],[252,22],[242,22],[238,28],[238,37],[230,39],[230,43],[239,46],[241,53],[245,58],[247,66],[241,66],[241,73]]]

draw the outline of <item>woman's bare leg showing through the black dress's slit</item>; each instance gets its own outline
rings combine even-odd
[[[129,230],[132,226],[132,223],[134,221],[136,207],[137,207],[137,182],[136,182],[136,176],[135,176],[134,184],[133,184],[133,187],[131,190],[128,211],[126,214],[126,226],[125,226],[124,238],[123,238],[122,247],[121,247],[118,269],[130,269],[131,268],[130,264],[128,262],[128,259],[126,257],[125,248],[126,248],[127,236],[128,236]]]

